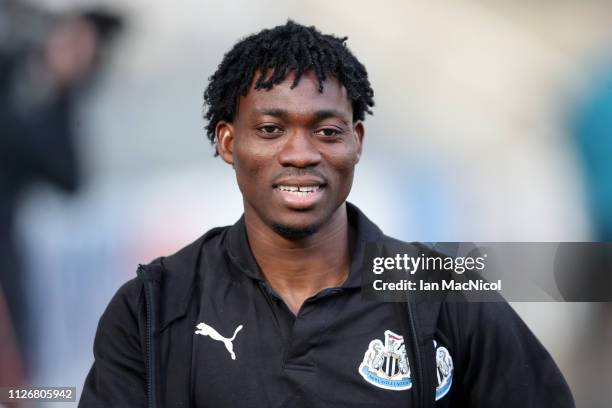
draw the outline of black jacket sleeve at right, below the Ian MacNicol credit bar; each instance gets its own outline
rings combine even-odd
[[[508,303],[457,306],[462,406],[575,407],[552,357]]]

